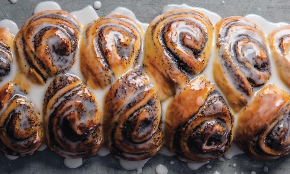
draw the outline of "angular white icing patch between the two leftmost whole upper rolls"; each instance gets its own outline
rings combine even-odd
[[[73,11],[70,14],[72,14],[82,24],[82,26],[85,26],[85,24],[99,18],[92,5],[88,5],[79,11]]]

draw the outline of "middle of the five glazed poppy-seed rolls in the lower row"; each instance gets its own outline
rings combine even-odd
[[[147,159],[163,146],[160,101],[140,68],[127,72],[111,87],[104,110],[105,144],[117,158]]]

